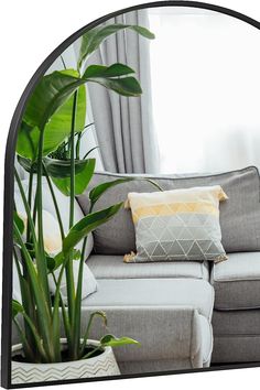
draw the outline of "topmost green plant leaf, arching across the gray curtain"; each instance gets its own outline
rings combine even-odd
[[[82,66],[83,62],[86,59],[86,57],[89,54],[91,54],[93,52],[95,52],[95,50],[97,50],[99,47],[99,45],[108,36],[117,33],[120,30],[124,30],[124,29],[130,29],[149,40],[153,40],[155,37],[154,34],[151,33],[148,29],[142,28],[140,25],[116,23],[116,24],[97,26],[95,29],[87,31],[82,36],[82,45],[80,45],[79,57],[78,57],[78,67],[80,68],[80,66]]]

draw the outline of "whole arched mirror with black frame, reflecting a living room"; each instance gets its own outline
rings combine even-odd
[[[41,65],[7,147],[2,386],[259,365],[259,26],[143,4]]]

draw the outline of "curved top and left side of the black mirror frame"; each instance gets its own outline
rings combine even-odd
[[[24,89],[20,101],[14,111],[11,124],[9,137],[7,141],[7,150],[6,150],[6,166],[4,166],[4,237],[3,237],[3,294],[2,294],[2,311],[8,318],[9,324],[4,324],[2,327],[2,384],[8,387],[10,386],[10,339],[11,339],[11,307],[10,307],[10,300],[12,294],[12,283],[11,283],[11,272],[12,272],[12,213],[13,213],[13,171],[14,171],[14,151],[15,151],[15,140],[18,129],[26,106],[26,101],[33,91],[34,87],[36,86],[39,79],[47,72],[50,66],[53,62],[72,44],[74,43],[80,35],[91,30],[95,26],[108,21],[109,19],[120,15],[122,13],[142,10],[147,8],[169,8],[169,7],[186,7],[186,8],[194,8],[194,9],[204,9],[209,11],[215,11],[218,13],[223,13],[229,15],[231,18],[236,18],[241,20],[245,23],[252,25],[253,28],[260,30],[260,23],[247,15],[243,15],[239,12],[234,10],[223,8],[219,6],[208,4],[204,2],[197,1],[159,1],[159,2],[149,2],[143,3],[140,6],[134,6],[130,8],[126,8],[105,17],[97,19],[96,21],[85,25],[84,28],[79,29],[77,32],[72,34],[68,39],[66,39],[59,46],[57,46],[42,63],[42,65],[37,68],[37,71],[32,76],[31,80],[29,82],[26,88]]]

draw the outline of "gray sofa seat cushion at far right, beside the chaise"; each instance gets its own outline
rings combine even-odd
[[[214,264],[212,284],[216,310],[260,307],[260,252],[229,253],[228,260]]]

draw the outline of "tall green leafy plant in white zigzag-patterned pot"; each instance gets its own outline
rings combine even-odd
[[[14,264],[18,270],[21,302],[12,302],[13,326],[21,344],[12,347],[12,383],[56,379],[118,375],[111,347],[138,344],[129,337],[107,334],[100,340],[89,340],[95,316],[107,323],[104,312],[94,312],[85,334],[82,325],[82,289],[87,235],[112,218],[121,203],[93,212],[93,206],[106,191],[126,180],[101,184],[89,194],[90,209],[82,220],[74,221],[75,195],[83,193],[95,170],[95,159],[79,160],[82,131],[85,128],[86,83],[98,83],[115,93],[136,97],[142,93],[133,69],[123,64],[90,65],[87,57],[109,35],[131,29],[152,39],[153,34],[138,25],[102,25],[82,37],[77,69],[56,71],[42,77],[32,93],[18,134],[19,162],[29,172],[29,188],[15,171],[26,218],[14,207]],[[62,248],[53,256],[44,247],[43,176],[48,185],[61,230]],[[131,177],[127,181],[132,180]],[[33,183],[36,194],[33,196]],[[53,184],[69,196],[69,231],[65,234]],[[82,250],[75,249],[83,242]],[[79,261],[77,280],[73,262]],[[58,270],[58,274],[55,272]],[[55,292],[50,292],[50,275]],[[61,283],[66,279],[67,302],[63,301]],[[65,338],[62,338],[61,327]],[[109,366],[109,368],[108,368]],[[104,368],[106,367],[106,369]]]

